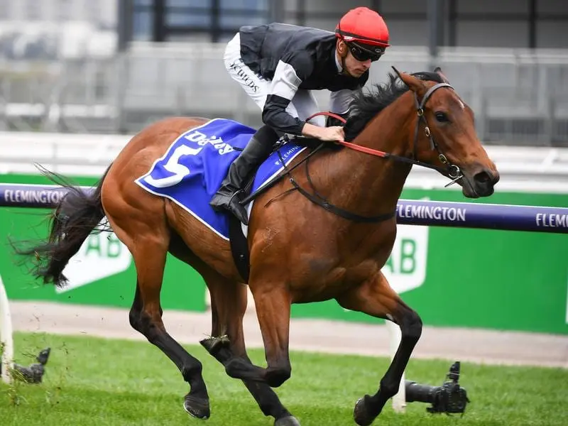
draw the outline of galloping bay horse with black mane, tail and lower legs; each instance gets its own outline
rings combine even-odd
[[[212,332],[200,343],[229,376],[244,382],[276,426],[300,424],[273,391],[291,376],[291,304],[334,299],[346,309],[391,320],[401,329],[400,346],[378,390],[357,400],[354,408],[356,424],[371,425],[397,393],[422,332],[420,316],[381,273],[395,241],[395,209],[408,173],[413,165],[434,168],[470,198],[492,195],[499,179],[476,136],[473,111],[442,70],[408,74],[393,69],[388,82],[354,98],[344,125],[345,146],[326,143],[329,149],[310,158],[310,170],[307,163],[290,169],[286,179],[253,203],[246,284],[256,305],[266,368],[253,365],[246,354],[246,284],[229,242],[134,182],[180,134],[207,119],[162,119],[140,131],[93,192],[67,185],[70,192],[52,212],[48,240],[19,253],[38,262],[35,276],[64,285],[65,265],[106,216],[136,266],[130,324],[179,368],[190,386],[184,408],[200,419],[210,415],[202,364],[170,337],[162,321],[160,290],[168,252],[195,268],[209,289]],[[294,163],[305,160],[308,151]]]

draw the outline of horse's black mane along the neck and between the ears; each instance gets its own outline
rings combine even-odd
[[[414,77],[420,80],[442,83],[442,77],[436,72],[415,72]],[[363,90],[356,92],[351,102],[349,118],[344,126],[345,140],[352,141],[369,120],[392,104],[403,93],[408,92],[408,87],[398,79],[397,75],[388,74],[388,82],[373,84],[373,87],[364,93]]]

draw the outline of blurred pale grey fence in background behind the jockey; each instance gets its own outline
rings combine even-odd
[[[173,114],[260,124],[258,107],[234,84],[219,43],[134,43],[110,58],[10,60],[2,76],[4,130],[133,132]],[[442,66],[474,109],[486,143],[568,146],[568,53],[442,49]],[[427,48],[397,48],[373,66],[369,84],[394,65],[430,69]],[[322,109],[325,91],[316,92]]]

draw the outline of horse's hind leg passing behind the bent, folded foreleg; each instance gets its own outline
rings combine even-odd
[[[212,302],[212,338],[203,340],[201,344],[224,366],[234,358],[239,358],[252,365],[246,354],[243,333],[246,287],[226,280],[210,269],[200,271],[200,273],[207,283]],[[275,426],[300,425],[300,422],[280,403],[278,395],[266,383],[248,380],[244,380],[243,383],[263,414],[274,417]]]

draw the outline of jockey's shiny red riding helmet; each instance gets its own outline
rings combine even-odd
[[[387,48],[388,28],[381,15],[366,7],[357,7],[345,13],[337,23],[335,35],[346,43]]]

